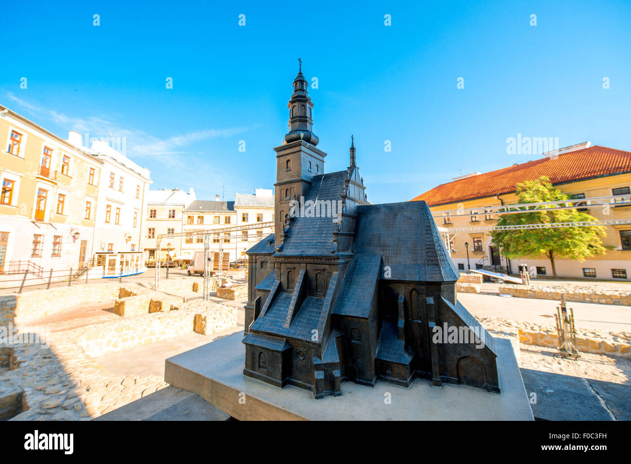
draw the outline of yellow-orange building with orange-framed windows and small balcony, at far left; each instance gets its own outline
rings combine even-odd
[[[1,105],[0,144],[0,273],[83,267],[102,161]]]

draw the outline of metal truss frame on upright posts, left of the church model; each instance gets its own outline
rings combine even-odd
[[[156,275],[155,275],[155,289],[160,289],[160,250],[162,240],[165,238],[174,238],[174,237],[199,237],[203,236],[204,238],[204,300],[208,300],[208,296],[210,293],[210,283],[211,283],[211,273],[213,269],[213,258],[214,255],[211,253],[211,240],[212,235],[219,235],[219,262],[218,262],[218,272],[217,279],[218,284],[221,285],[221,275],[223,274],[223,240],[225,238],[226,233],[239,232],[244,230],[251,229],[265,229],[268,227],[274,227],[273,221],[269,221],[267,223],[254,223],[254,224],[245,224],[242,226],[232,226],[232,227],[223,227],[217,229],[192,229],[185,232],[178,232],[172,234],[159,234],[156,235]],[[238,236],[237,236],[238,238]],[[227,269],[228,270],[228,269]]]

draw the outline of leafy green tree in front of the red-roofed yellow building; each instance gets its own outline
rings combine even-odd
[[[552,186],[550,179],[542,176],[537,180],[518,183],[516,194],[518,204],[540,203],[546,201],[567,200],[569,197]],[[576,209],[557,209],[554,211],[529,211],[518,214],[503,214],[497,221],[498,226],[521,224],[570,223],[577,221],[596,221],[586,212]],[[492,243],[499,246],[502,254],[510,259],[520,257],[536,258],[545,255],[552,265],[552,275],[557,278],[554,260],[557,257],[585,260],[594,255],[604,255],[607,248],[600,240],[605,235],[602,226],[551,227],[545,229],[494,230]]]

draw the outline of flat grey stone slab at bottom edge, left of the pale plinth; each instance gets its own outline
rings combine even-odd
[[[92,420],[228,420],[230,416],[195,393],[172,386]]]

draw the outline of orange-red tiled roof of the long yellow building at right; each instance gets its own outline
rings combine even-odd
[[[412,201],[425,200],[429,206],[492,197],[515,191],[516,184],[548,176],[553,184],[631,172],[631,152],[598,145],[568,153],[556,159],[541,158],[498,169],[438,187]]]

